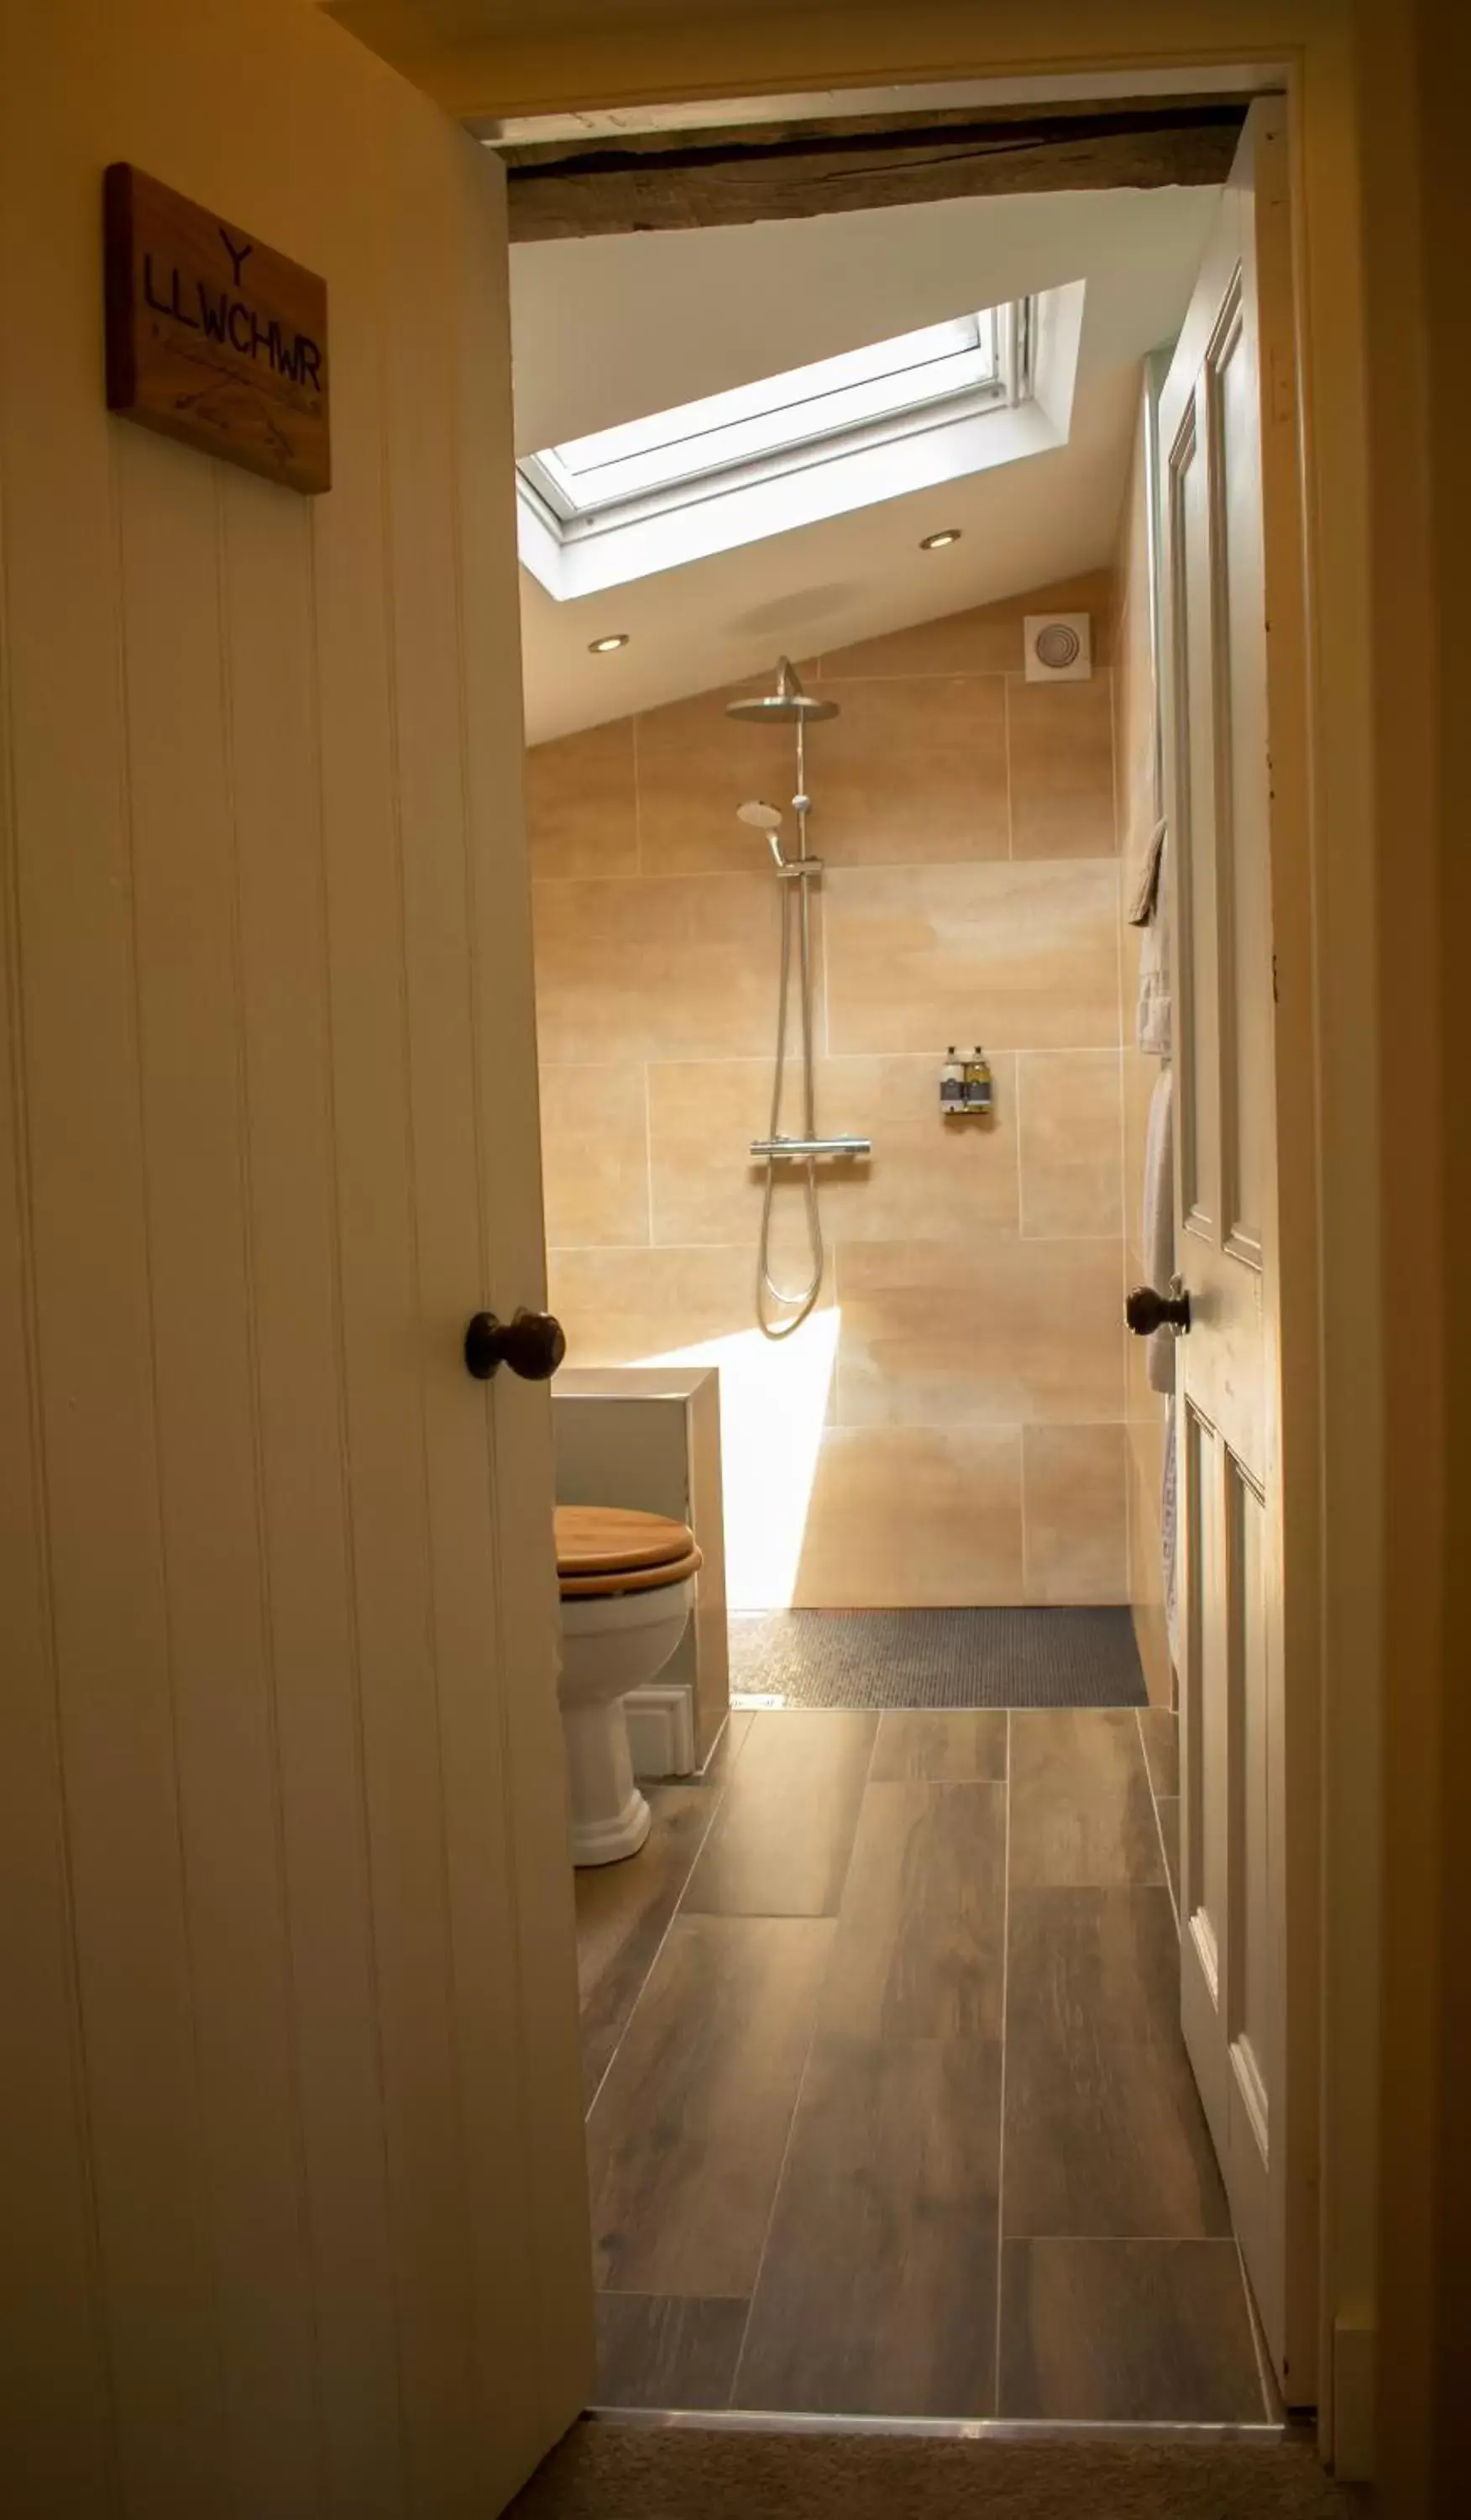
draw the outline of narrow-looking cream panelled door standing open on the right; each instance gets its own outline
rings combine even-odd
[[[1181,2013],[1269,2351],[1315,2394],[1312,1671],[1290,1663],[1312,1552],[1282,1343],[1302,1167],[1275,920],[1305,824],[1297,413],[1285,108],[1249,113],[1161,396],[1166,811],[1174,862],[1181,1532]],[[1272,552],[1272,570],[1267,554]],[[1272,580],[1272,600],[1269,600]],[[1282,1187],[1282,1197],[1280,1197]]]

